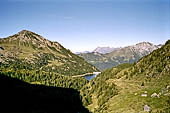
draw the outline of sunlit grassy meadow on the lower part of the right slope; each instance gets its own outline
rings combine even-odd
[[[119,94],[113,96],[102,107],[103,113],[147,113],[144,112],[144,106],[151,107],[151,112],[156,113],[157,110],[162,110],[165,106],[166,97],[161,95],[158,97],[151,97],[153,93],[159,93],[165,88],[167,83],[170,83],[170,77],[164,76],[159,79],[146,82],[141,86],[141,81],[138,78],[131,80],[125,79],[123,76],[120,79],[109,79],[107,82],[112,82],[117,85]],[[141,94],[147,91],[147,97],[142,97]],[[94,97],[93,102],[97,101]],[[91,104],[89,109],[95,107]]]

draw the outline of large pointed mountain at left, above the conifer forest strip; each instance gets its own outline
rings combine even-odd
[[[0,62],[16,70],[42,70],[62,75],[98,71],[58,42],[27,30],[0,39]]]

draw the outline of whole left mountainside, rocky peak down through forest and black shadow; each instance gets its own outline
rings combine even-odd
[[[94,71],[58,42],[31,31],[0,39],[0,96],[2,107],[8,107],[0,112],[88,113],[79,95],[88,80],[71,75]]]

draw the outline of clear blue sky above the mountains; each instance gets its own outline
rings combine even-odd
[[[170,0],[0,0],[0,37],[21,30],[72,52],[170,39]]]

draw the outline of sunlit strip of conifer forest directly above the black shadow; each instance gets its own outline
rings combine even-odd
[[[20,65],[23,67],[23,65]],[[3,65],[0,63],[0,74],[17,78],[30,84],[41,84],[46,86],[73,88],[80,90],[87,82],[83,77],[63,76],[52,72],[39,70],[17,69],[13,65]]]

